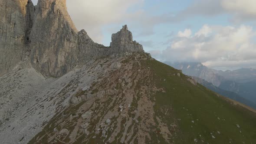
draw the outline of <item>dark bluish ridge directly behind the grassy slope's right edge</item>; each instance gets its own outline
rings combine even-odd
[[[220,85],[220,87],[217,87],[217,86],[214,86],[212,83],[207,82],[204,79],[200,79],[198,77],[193,77],[193,79],[195,79],[198,83],[200,83],[201,85],[205,86],[206,88],[212,90],[213,92],[216,92],[216,93],[218,93],[220,95],[223,95],[223,96],[225,96],[227,98],[230,98],[230,99],[233,99],[235,101],[239,101],[239,102],[241,102],[241,103],[243,103],[245,105],[248,105],[251,108],[256,109],[256,104],[253,103],[252,101],[249,101],[246,98],[241,97],[236,92],[232,92],[232,90],[226,91],[226,90],[221,89],[223,84]],[[223,85],[223,87],[224,87],[224,85]],[[251,99],[251,98],[249,98],[249,99]]]

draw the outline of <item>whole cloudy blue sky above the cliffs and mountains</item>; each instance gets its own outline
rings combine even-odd
[[[256,0],[67,0],[67,8],[77,29],[105,46],[127,24],[161,62],[256,69]]]

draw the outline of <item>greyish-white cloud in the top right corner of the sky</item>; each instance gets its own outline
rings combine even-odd
[[[181,21],[194,16],[212,17],[228,14],[233,23],[256,21],[256,0],[195,0],[174,17]]]

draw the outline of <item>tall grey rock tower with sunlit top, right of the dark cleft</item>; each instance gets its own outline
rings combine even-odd
[[[38,1],[30,38],[31,62],[43,75],[58,77],[73,69],[77,30],[66,0]]]

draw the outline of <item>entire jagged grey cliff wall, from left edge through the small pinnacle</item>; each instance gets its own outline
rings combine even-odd
[[[26,57],[43,75],[59,77],[96,57],[144,52],[126,25],[112,35],[111,46],[94,43],[85,30],[75,28],[66,0],[39,0],[35,7],[31,0],[1,0],[2,16],[0,75]]]

